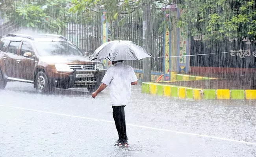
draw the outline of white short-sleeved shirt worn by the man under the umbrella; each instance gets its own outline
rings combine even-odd
[[[122,62],[111,66],[102,79],[109,86],[112,106],[126,105],[131,97],[131,83],[137,81],[134,69]]]

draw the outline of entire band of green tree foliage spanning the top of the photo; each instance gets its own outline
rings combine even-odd
[[[171,2],[182,9],[178,26],[188,29],[191,36],[256,37],[255,0],[2,0],[0,9],[22,27],[61,33],[71,20],[80,24],[98,22],[95,18],[103,10],[107,10],[109,22],[123,25],[127,15],[133,15],[141,24],[143,6],[150,4],[152,24],[156,27],[158,23],[161,29],[161,7]]]

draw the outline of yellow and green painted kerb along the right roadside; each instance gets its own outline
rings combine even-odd
[[[202,77],[203,79],[203,77]],[[143,82],[142,93],[193,100],[256,100],[256,90],[250,89],[198,89],[157,82]]]

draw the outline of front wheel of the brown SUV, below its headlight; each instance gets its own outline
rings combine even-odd
[[[38,93],[49,93],[52,87],[49,84],[48,77],[43,71],[39,71],[35,78],[35,88]]]

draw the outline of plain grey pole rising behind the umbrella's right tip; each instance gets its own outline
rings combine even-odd
[[[150,2],[143,0],[143,48],[151,53]],[[143,81],[151,81],[151,58],[143,59]]]

